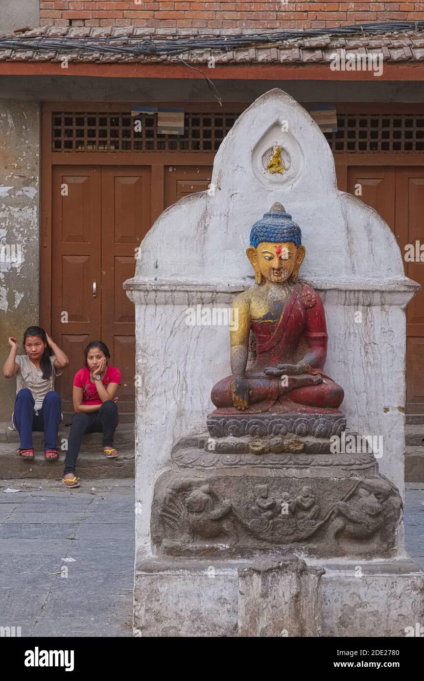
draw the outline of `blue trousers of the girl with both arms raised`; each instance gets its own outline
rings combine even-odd
[[[47,449],[57,449],[57,430],[61,422],[59,394],[49,390],[37,413],[34,405],[33,394],[27,387],[16,394],[13,422],[19,432],[20,449],[33,449],[33,430],[44,431],[44,452]]]

